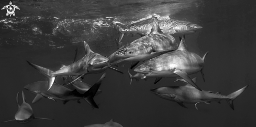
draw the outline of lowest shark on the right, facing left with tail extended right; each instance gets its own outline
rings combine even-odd
[[[196,82],[196,78],[193,79]],[[153,88],[150,90],[155,95],[171,100],[176,101],[180,106],[187,108],[183,105],[183,103],[188,104],[196,104],[205,103],[209,104],[211,101],[227,100],[229,106],[234,110],[233,100],[236,99],[246,88],[248,85],[244,86],[240,90],[233,92],[227,96],[221,95],[220,92],[212,92],[212,91],[198,91],[195,87],[193,87],[190,83],[185,86],[168,86],[168,87],[159,87]]]

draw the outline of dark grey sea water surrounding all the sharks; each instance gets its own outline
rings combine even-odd
[[[85,101],[69,101],[63,105],[50,99],[31,104],[36,117],[53,121],[33,120],[27,124],[0,123],[0,126],[84,126],[105,123],[110,119],[123,126],[255,126],[256,90],[256,33],[255,4],[249,1],[12,1],[20,10],[16,16],[6,17],[0,11],[0,120],[14,119],[18,109],[17,92],[24,91],[31,104],[35,95],[24,90],[27,84],[46,78],[28,65],[26,60],[42,67],[57,70],[69,65],[74,50],[79,47],[79,58],[84,55],[82,41],[91,49],[108,56],[115,52],[117,32],[113,21],[129,23],[152,14],[199,24],[203,29],[186,36],[188,48],[203,56],[209,52],[204,67],[206,82],[197,73],[197,84],[203,90],[228,95],[250,85],[235,101],[233,111],[225,100],[221,104],[192,104],[185,109],[176,103],[150,93],[160,86],[175,86],[175,78],[133,81],[129,85],[125,74],[106,71],[106,78],[95,96],[99,109],[92,109]],[[1,1],[0,6],[9,1]],[[108,18],[106,18],[108,17]],[[113,18],[110,18],[113,17]],[[114,19],[116,18],[116,19]],[[139,35],[125,36],[124,43]],[[177,41],[177,39],[176,39]],[[179,41],[177,41],[179,42]],[[86,75],[84,82],[94,84],[101,74]],[[19,102],[22,102],[21,96]]]

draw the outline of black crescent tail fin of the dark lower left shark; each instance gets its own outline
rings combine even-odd
[[[106,77],[106,73],[102,74],[102,77],[88,90],[83,94],[85,101],[93,106],[94,108],[98,108],[97,104],[95,103],[93,97],[98,91],[99,86],[101,86],[103,79]]]

